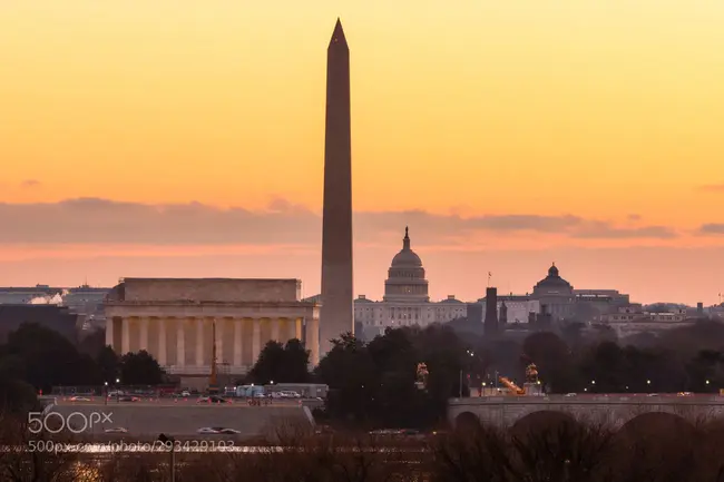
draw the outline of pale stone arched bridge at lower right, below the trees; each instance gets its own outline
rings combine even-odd
[[[481,396],[452,399],[448,420],[452,426],[474,422],[499,427],[524,426],[547,420],[603,423],[620,429],[650,414],[687,422],[724,417],[724,396],[713,394],[587,394],[539,396]]]

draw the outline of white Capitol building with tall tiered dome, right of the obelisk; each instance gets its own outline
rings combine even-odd
[[[428,279],[422,259],[410,247],[410,234],[404,228],[402,249],[394,255],[384,282],[381,302],[360,295],[354,301],[354,321],[362,325],[368,338],[383,334],[387,327],[447,323],[467,315],[467,303],[450,295],[441,302],[430,302]]]

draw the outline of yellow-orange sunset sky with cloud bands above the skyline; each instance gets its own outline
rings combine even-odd
[[[326,46],[351,50],[355,292],[724,292],[722,0],[0,2],[0,285],[319,292]]]

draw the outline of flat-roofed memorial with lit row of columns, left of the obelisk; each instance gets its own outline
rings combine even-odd
[[[167,373],[211,373],[213,333],[221,373],[242,375],[268,341],[299,338],[320,358],[320,305],[299,279],[124,278],[105,301],[106,344],[150,353]],[[215,325],[215,329],[214,329]]]

